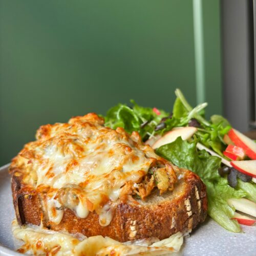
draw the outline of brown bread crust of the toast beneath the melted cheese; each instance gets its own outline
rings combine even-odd
[[[168,238],[178,231],[187,231],[203,222],[207,215],[206,187],[201,179],[188,170],[170,196],[151,195],[152,203],[117,204],[111,223],[102,227],[96,212],[81,219],[65,208],[59,224],[52,224],[44,210],[44,194],[25,189],[22,176],[12,175],[12,195],[17,221],[20,225],[42,224],[56,231],[82,233],[87,237],[102,235],[119,242],[157,237]],[[18,175],[17,175],[18,174]],[[156,196],[157,195],[157,196]],[[174,196],[175,195],[175,196]],[[154,201],[158,198],[158,201]],[[159,199],[160,198],[160,199]],[[150,199],[149,199],[150,200]]]

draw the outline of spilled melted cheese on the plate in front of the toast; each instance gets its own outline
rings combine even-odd
[[[25,242],[18,251],[34,255],[169,255],[178,252],[183,244],[181,232],[155,243],[147,241],[150,244],[143,245],[143,240],[133,244],[120,243],[102,236],[77,238],[69,233],[45,228],[19,227],[16,220],[13,221],[12,229],[14,237]]]

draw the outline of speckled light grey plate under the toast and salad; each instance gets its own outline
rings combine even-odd
[[[0,168],[0,254],[22,255],[14,252],[17,241],[12,237],[14,219],[8,165]],[[231,233],[215,221],[207,219],[185,239],[183,255],[256,255],[256,226],[243,226],[243,233]]]

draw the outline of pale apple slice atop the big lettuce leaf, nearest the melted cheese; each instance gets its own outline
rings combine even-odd
[[[158,148],[162,145],[171,143],[181,136],[183,140],[191,138],[197,132],[196,127],[182,127],[181,129],[172,130],[167,132],[163,137],[158,139],[154,144],[153,148]]]

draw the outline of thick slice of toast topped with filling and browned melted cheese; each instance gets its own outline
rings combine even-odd
[[[41,126],[36,139],[10,165],[19,225],[127,242],[163,240],[205,220],[200,178],[158,156],[137,132],[105,127],[90,113]],[[23,234],[24,251],[59,248]]]

